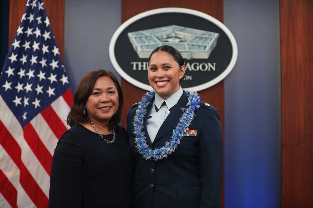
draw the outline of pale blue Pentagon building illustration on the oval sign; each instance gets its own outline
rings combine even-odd
[[[149,58],[156,47],[170,45],[184,59],[207,59],[217,44],[219,34],[171,25],[129,32],[127,36],[139,58]]]

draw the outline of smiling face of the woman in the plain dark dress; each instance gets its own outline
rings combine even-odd
[[[107,76],[99,77],[86,102],[86,110],[92,123],[109,123],[118,109],[118,92]]]

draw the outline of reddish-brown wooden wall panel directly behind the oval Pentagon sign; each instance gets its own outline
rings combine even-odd
[[[183,7],[188,9],[194,9],[206,13],[223,22],[223,1],[220,0],[122,0],[121,6],[122,23],[141,12],[163,7]],[[123,89],[124,99],[127,101],[125,102],[123,107],[121,123],[124,127],[126,127],[126,116],[128,113],[128,109],[132,106],[132,104],[137,103],[141,100],[144,93],[146,93],[146,90],[139,89],[138,87],[132,85],[123,78],[121,80],[121,86]],[[201,100],[212,104],[218,109],[224,135],[224,80],[208,89],[199,91],[198,93]],[[222,190],[221,207],[224,207],[224,185]]]

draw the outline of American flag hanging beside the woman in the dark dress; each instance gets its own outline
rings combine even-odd
[[[29,0],[0,75],[0,207],[48,207],[68,76],[42,0]]]

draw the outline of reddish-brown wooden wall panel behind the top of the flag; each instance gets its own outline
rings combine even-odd
[[[64,63],[64,0],[44,0],[50,26]],[[26,8],[25,0],[10,0],[9,48]]]

